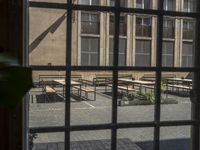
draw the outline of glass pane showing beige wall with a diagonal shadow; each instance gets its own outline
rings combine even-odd
[[[29,9],[29,64],[65,65],[66,11]]]

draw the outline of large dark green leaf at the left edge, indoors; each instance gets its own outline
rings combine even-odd
[[[31,68],[20,66],[7,54],[0,54],[0,106],[15,108],[31,87]]]

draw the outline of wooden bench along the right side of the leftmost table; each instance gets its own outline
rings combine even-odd
[[[96,91],[92,88],[88,88],[88,87],[81,87],[80,86],[73,86],[73,88],[77,89],[78,90],[78,93],[80,96],[82,96],[82,93],[81,92],[84,92],[85,93],[85,99],[86,100],[90,100],[88,98],[88,94],[89,93],[94,93],[94,99],[93,100],[96,100]]]

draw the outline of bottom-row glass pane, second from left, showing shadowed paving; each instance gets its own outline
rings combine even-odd
[[[71,132],[70,150],[110,150],[110,137],[110,130]]]

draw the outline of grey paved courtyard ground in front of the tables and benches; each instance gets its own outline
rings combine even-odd
[[[38,93],[33,94],[33,103],[30,103],[29,126],[62,126],[64,125],[64,101],[59,102],[38,102]],[[161,105],[161,120],[189,120],[191,119],[191,103],[188,98],[171,96],[178,100],[178,104]],[[102,124],[111,122],[111,97],[97,94],[96,101],[76,101],[71,100],[71,124]],[[141,122],[154,120],[154,105],[141,106],[119,106],[118,122]],[[133,128],[119,129],[118,139],[128,139],[133,144],[136,143],[142,150],[153,148],[153,128]],[[77,131],[71,133],[72,143],[102,140],[109,141],[110,130],[101,131]],[[190,127],[163,127],[160,130],[162,150],[189,150]],[[175,142],[179,140],[179,142]],[[171,142],[170,142],[171,141]],[[187,141],[187,142],[186,142]],[[38,134],[35,143],[55,143],[64,142],[64,133]],[[123,143],[123,142],[122,142]],[[182,143],[182,144],[181,144]],[[76,145],[75,144],[75,145]],[[85,144],[85,145],[87,145]],[[72,144],[73,145],[73,144]],[[84,145],[84,144],[83,144]],[[171,147],[170,147],[171,145]],[[184,146],[184,147],[183,147]],[[83,146],[84,147],[84,146]],[[168,149],[170,147],[170,149]],[[175,148],[175,149],[174,149]],[[72,147],[73,149],[73,147]],[[106,150],[106,148],[104,148]],[[120,148],[119,148],[120,149]],[[129,150],[130,148],[124,148]],[[87,148],[82,148],[87,150]],[[88,149],[89,150],[89,149]],[[94,149],[101,150],[101,149]],[[135,149],[131,149],[135,150]]]

